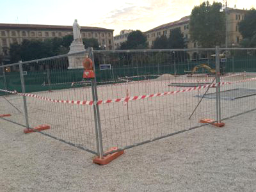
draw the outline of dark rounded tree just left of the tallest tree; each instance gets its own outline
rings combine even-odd
[[[186,47],[180,28],[172,29],[168,38],[168,44],[170,49],[184,49]]]

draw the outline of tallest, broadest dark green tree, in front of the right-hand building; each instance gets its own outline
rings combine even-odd
[[[215,47],[225,42],[225,13],[221,3],[206,1],[191,12],[189,33],[202,47]]]

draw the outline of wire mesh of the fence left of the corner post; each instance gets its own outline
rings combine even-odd
[[[26,97],[28,119],[30,128],[50,125],[51,129],[43,131],[44,134],[97,153],[92,106],[56,102],[56,100],[92,100],[90,81],[83,79],[82,61],[85,54],[88,55],[88,52],[22,62],[26,93],[40,97],[31,97],[31,95]],[[73,63],[72,68],[69,69],[70,57],[77,60],[79,65]],[[19,65],[12,66],[10,72],[5,74],[7,87],[4,87],[1,81],[1,89],[16,90],[21,93]],[[21,111],[18,113],[8,102],[1,102],[1,113],[10,112],[12,116],[6,119],[26,126],[22,96],[8,94],[6,97],[4,92],[1,93],[3,94],[1,100],[8,99]]]

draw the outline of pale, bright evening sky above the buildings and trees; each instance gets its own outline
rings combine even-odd
[[[49,24],[147,31],[190,15],[202,0],[0,0],[0,23]],[[210,0],[212,3],[212,1]],[[223,2],[223,1],[218,1]],[[229,0],[228,6],[256,8],[255,0]]]

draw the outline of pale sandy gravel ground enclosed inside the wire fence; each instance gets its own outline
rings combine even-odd
[[[229,76],[234,74],[229,74]],[[237,76],[221,77],[222,82],[235,82],[256,77],[256,74],[235,74]],[[173,92],[186,87],[169,86],[170,83],[212,82],[214,77],[187,77],[164,74],[150,80],[128,83],[122,81],[115,84],[101,84],[97,87],[99,100],[120,99],[154,93]],[[256,81],[221,86],[221,91],[246,88],[256,90]],[[216,120],[216,99],[203,99],[193,116],[200,97],[207,89],[191,92],[164,95],[129,102],[112,102],[100,104],[100,125],[104,151],[111,147],[127,148],[140,143],[168,136],[175,132],[198,127],[202,118]],[[209,88],[207,93],[215,93],[216,88]],[[90,86],[70,86],[66,90],[54,92],[36,92],[35,94],[50,99],[92,100]],[[234,93],[236,95],[237,93]],[[221,99],[221,118],[250,111],[256,108],[256,96],[241,99]],[[10,95],[0,98],[0,113],[11,113],[8,120],[26,125],[24,120],[23,98]],[[97,152],[95,140],[95,121],[93,107],[88,105],[63,104],[26,97],[28,103],[29,127],[47,124],[51,129],[44,131],[50,136],[70,142],[77,147],[83,147]],[[189,116],[191,118],[189,119]]]

